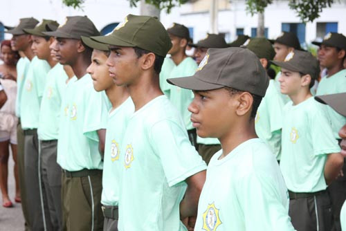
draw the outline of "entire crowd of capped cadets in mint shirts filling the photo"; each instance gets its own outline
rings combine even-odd
[[[137,15],[6,32],[0,185],[12,207],[11,147],[26,230],[346,230],[344,35],[314,57]]]

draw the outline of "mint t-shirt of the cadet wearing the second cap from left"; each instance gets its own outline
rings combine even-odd
[[[46,86],[39,111],[39,140],[57,140],[62,97],[68,76],[62,64],[56,64],[48,71]]]

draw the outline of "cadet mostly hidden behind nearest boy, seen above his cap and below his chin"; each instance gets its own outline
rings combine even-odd
[[[228,47],[224,36],[209,33],[207,33],[206,38],[201,39],[197,44],[191,44],[191,46],[196,48],[194,58],[196,59],[197,65],[199,65],[204,56],[206,56],[208,48]],[[220,149],[221,145],[217,138],[201,138],[197,136],[197,151],[199,155],[202,156],[203,160],[206,161],[207,165],[210,158]]]

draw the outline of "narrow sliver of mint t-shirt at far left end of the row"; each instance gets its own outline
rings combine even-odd
[[[30,66],[30,60],[27,57],[21,57],[17,62],[17,97],[16,97],[16,116],[20,117],[21,93],[23,91],[23,82],[26,80],[26,74]]]

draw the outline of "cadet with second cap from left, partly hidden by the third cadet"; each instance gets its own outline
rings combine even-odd
[[[46,85],[42,94],[39,109],[39,124],[37,135],[39,139],[39,185],[40,193],[46,198],[49,216],[46,226],[53,230],[62,230],[61,210],[61,167],[57,164],[57,135],[60,117],[61,98],[64,95],[67,75],[57,59],[51,56],[50,46],[54,37],[44,35],[47,28],[56,30],[59,24],[56,21],[43,19],[34,29],[24,29],[33,38],[33,51],[39,59],[44,59],[51,66],[46,76]]]

